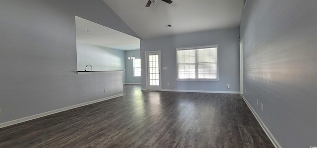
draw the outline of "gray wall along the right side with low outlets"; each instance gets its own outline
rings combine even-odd
[[[244,96],[283,148],[317,146],[316,14],[316,0],[248,0],[242,13]]]

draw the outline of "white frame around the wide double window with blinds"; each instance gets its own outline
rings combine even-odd
[[[215,79],[199,79],[196,78],[195,79],[180,79],[179,78],[179,69],[178,69],[178,50],[190,50],[190,49],[207,49],[207,48],[217,48],[217,68],[216,68],[216,78]],[[196,46],[196,47],[186,47],[186,48],[176,48],[176,72],[177,72],[177,76],[176,76],[176,80],[177,81],[219,81],[219,47],[218,45],[208,45],[208,46]],[[197,62],[195,63],[197,65]],[[195,67],[195,70],[197,71],[197,67]]]

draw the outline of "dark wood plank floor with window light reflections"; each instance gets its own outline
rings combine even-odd
[[[240,95],[150,92],[0,129],[0,148],[273,148]]]

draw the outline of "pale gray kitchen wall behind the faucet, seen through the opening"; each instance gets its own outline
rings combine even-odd
[[[124,70],[125,53],[123,50],[77,43],[77,70],[84,71],[87,64],[96,71]],[[90,66],[87,70],[90,70]]]

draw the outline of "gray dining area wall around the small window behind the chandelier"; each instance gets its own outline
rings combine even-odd
[[[133,61],[128,60],[131,51],[125,51],[125,83],[141,83],[141,77],[133,77]],[[140,58],[140,50],[132,50],[132,56]]]

